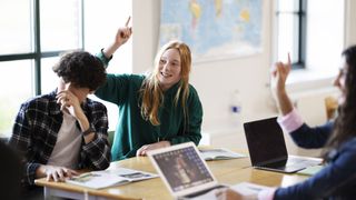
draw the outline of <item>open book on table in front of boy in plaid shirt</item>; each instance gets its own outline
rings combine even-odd
[[[102,189],[134,181],[152,179],[158,176],[155,173],[127,168],[116,168],[82,173],[78,177],[72,177],[71,179],[66,180],[66,182],[92,189]]]

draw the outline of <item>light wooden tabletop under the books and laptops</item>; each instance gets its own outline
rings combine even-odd
[[[236,184],[239,182],[248,181],[269,187],[286,187],[300,182],[308,178],[298,174],[285,174],[254,169],[250,167],[249,158],[208,161],[207,163],[214,176],[219,181],[219,183],[226,184]],[[117,167],[157,173],[154,166],[150,163],[147,157],[136,157],[127,160],[112,162],[110,164],[110,168]],[[128,184],[101,190],[87,189],[63,182],[49,182],[46,181],[46,179],[36,180],[36,184],[70,192],[87,192],[89,196],[99,196],[110,199],[158,199],[158,197],[159,199],[172,199],[164,181],[160,178],[131,182]]]

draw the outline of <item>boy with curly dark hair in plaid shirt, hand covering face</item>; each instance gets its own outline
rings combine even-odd
[[[110,163],[107,109],[87,98],[105,82],[101,61],[70,52],[53,71],[57,89],[21,104],[9,141],[23,157],[22,183],[29,188],[38,178],[63,181],[76,169],[102,170]]]

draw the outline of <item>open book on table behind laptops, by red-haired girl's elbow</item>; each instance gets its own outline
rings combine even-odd
[[[204,160],[227,160],[246,157],[225,148],[199,149],[199,151]]]

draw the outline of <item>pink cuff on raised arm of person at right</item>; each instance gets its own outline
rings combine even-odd
[[[278,117],[277,121],[288,133],[297,130],[304,123],[304,120],[295,108],[286,116]]]

